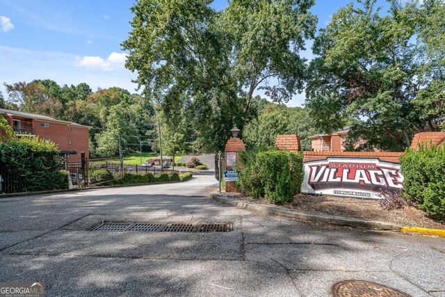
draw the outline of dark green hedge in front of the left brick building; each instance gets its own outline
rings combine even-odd
[[[60,171],[58,147],[38,137],[3,139],[0,155],[15,192],[68,188],[68,174]],[[4,178],[4,177],[3,177]]]

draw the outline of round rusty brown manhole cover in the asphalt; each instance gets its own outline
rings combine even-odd
[[[335,297],[410,297],[396,289],[392,289],[376,282],[364,280],[344,280],[332,287]]]

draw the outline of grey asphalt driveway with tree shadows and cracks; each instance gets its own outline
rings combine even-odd
[[[0,200],[0,281],[47,296],[330,296],[341,280],[445,296],[445,239],[311,225],[212,202],[212,176]],[[98,232],[102,221],[234,232]]]

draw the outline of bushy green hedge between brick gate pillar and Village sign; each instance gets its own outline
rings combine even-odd
[[[236,183],[241,191],[275,204],[289,203],[300,192],[304,176],[301,153],[270,150],[243,157],[245,164]]]

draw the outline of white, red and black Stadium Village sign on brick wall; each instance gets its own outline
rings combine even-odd
[[[380,199],[382,190],[399,190],[403,175],[398,163],[380,159],[327,157],[303,163],[302,193]]]

